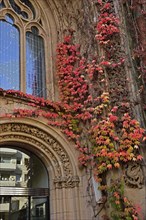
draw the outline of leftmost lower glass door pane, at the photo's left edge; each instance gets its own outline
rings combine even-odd
[[[0,196],[0,220],[9,220],[10,197]]]

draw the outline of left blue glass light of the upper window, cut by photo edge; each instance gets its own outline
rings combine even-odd
[[[0,88],[19,90],[19,55],[18,29],[0,20]]]

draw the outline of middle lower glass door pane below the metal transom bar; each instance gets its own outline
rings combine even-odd
[[[11,220],[29,220],[29,200],[27,197],[11,198]]]

